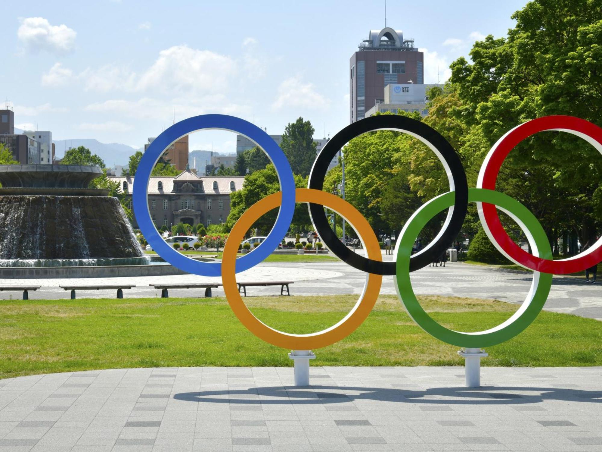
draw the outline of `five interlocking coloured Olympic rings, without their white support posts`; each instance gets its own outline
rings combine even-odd
[[[281,186],[280,192],[266,196],[241,215],[226,240],[221,263],[197,262],[173,250],[155,228],[147,202],[151,171],[167,147],[188,133],[206,129],[237,132],[255,142],[274,164]],[[349,202],[322,191],[327,167],[339,149],[354,137],[376,130],[402,131],[421,140],[441,161],[450,184],[450,191],[427,201],[405,223],[396,243],[394,262],[382,261],[378,240],[361,213]],[[226,298],[237,318],[249,331],[270,344],[293,350],[309,350],[326,347],[344,339],[364,322],[374,307],[382,275],[394,275],[397,295],[409,316],[423,330],[441,341],[459,347],[489,347],[511,339],[533,322],[547,300],[553,274],[582,271],[602,261],[602,237],[594,246],[577,256],[553,260],[550,243],[538,219],[520,202],[495,192],[498,172],[509,152],[522,140],[545,130],[559,130],[582,137],[602,154],[602,128],[573,116],[544,116],[518,125],[504,134],[486,156],[479,172],[477,187],[469,189],[458,154],[433,128],[406,116],[371,116],[354,122],[335,134],[318,154],[309,175],[308,188],[296,189],[293,172],[284,152],[261,128],[234,116],[194,116],[167,128],[144,152],[132,193],[134,213],[147,242],[167,262],[192,274],[221,275]],[[330,251],[367,274],[364,290],[349,314],[332,327],[311,334],[290,334],[265,325],[247,309],[236,284],[238,272],[257,265],[278,247],[288,231],[296,202],[308,203],[312,224]],[[463,333],[438,324],[422,309],[414,295],[409,275],[433,262],[447,250],[461,230],[468,202],[476,202],[480,221],[495,248],[512,262],[533,270],[533,281],[526,300],[509,319],[485,331]],[[246,231],[256,219],[276,207],[279,207],[278,217],[267,238],[253,253],[237,259],[238,245]],[[328,224],[323,207],[334,210],[352,225],[367,251],[367,257],[353,253],[340,242]],[[441,231],[423,250],[412,255],[412,245],[424,225],[445,209],[448,209],[448,213]],[[535,255],[527,253],[510,239],[501,225],[497,209],[517,222]]]

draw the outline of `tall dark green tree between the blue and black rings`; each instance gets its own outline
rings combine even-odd
[[[314,142],[314,127],[311,122],[303,121],[303,118],[297,118],[297,121],[290,122],[284,128],[280,147],[287,156],[293,174],[308,176],[317,152]]]

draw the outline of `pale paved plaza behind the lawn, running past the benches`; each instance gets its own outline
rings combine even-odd
[[[383,256],[389,260],[391,256]],[[412,284],[418,295],[452,295],[457,297],[497,298],[509,303],[523,303],[531,286],[532,274],[500,270],[486,266],[467,265],[461,262],[447,263],[444,268],[425,267],[412,273]],[[323,263],[262,263],[237,275],[238,281],[295,281],[290,286],[291,295],[340,295],[353,293],[359,295],[364,289],[366,275],[344,262]],[[40,279],[5,280],[4,284],[40,285],[42,289],[29,292],[31,299],[69,298],[69,292],[58,286],[72,284],[135,284],[131,290],[125,290],[123,296],[160,297],[160,290],[149,284],[176,283],[221,283],[220,277],[202,277],[197,275],[172,275],[159,277],[134,278],[79,278],[79,279]],[[583,278],[555,275],[550,296],[545,304],[546,310],[571,313],[583,317],[602,320],[602,280],[599,284],[584,284]],[[170,297],[202,297],[204,290],[170,289]],[[393,277],[383,277],[380,293],[394,295]],[[249,287],[247,294],[279,295],[280,286]],[[213,295],[223,297],[222,288],[214,289]],[[114,290],[81,290],[78,298],[114,298]],[[20,292],[0,292],[0,299],[21,297]]]

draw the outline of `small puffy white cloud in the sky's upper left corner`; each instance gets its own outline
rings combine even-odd
[[[75,47],[77,33],[67,25],[50,25],[43,17],[27,17],[21,20],[17,37],[26,49],[45,50],[55,54],[67,54]]]

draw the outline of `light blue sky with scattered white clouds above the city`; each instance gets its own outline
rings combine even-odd
[[[474,40],[506,36],[524,4],[389,0],[387,25],[415,39],[435,83]],[[336,133],[349,122],[349,57],[384,27],[384,1],[11,1],[0,16],[0,96],[17,125],[140,147],[174,108],[176,121],[255,115],[279,134],[303,116],[315,137]],[[190,141],[235,151],[223,131]]]

